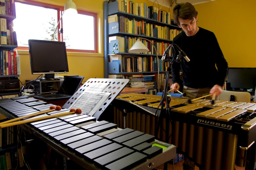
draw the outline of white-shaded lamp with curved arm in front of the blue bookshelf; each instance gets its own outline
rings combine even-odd
[[[148,42],[150,42],[153,45],[153,48],[156,50],[154,44],[151,41],[149,41],[146,38],[139,37],[137,39],[137,41],[133,44],[133,46],[130,48],[129,52],[132,52],[132,53],[143,53],[143,52],[149,51],[148,48],[141,41],[139,41],[139,39],[147,40]],[[157,50],[156,50],[156,57],[157,57],[157,77],[158,77],[157,87],[158,87],[158,92],[160,92],[159,91],[159,81],[160,81],[159,80],[159,59],[158,59],[158,56],[157,56]]]

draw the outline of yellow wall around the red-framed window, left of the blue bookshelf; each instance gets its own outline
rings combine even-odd
[[[21,0],[24,1],[24,0]],[[25,0],[26,1],[26,0]],[[58,6],[64,6],[67,0],[34,0],[42,3],[48,3]],[[86,53],[71,53],[68,52],[68,74],[60,75],[79,75],[84,76],[84,80],[89,78],[104,78],[104,51],[103,51],[103,2],[105,0],[73,0],[77,5],[77,9],[95,12],[98,19],[98,54]],[[152,6],[153,2],[146,0],[134,0],[136,3],[146,2],[147,6]],[[161,6],[161,5],[160,5]],[[162,7],[163,10],[168,10],[167,7]],[[170,9],[171,11],[171,9]],[[39,75],[32,75],[30,69],[29,53],[28,51],[18,50],[21,55],[21,75],[19,79],[25,83],[26,79],[34,79]]]

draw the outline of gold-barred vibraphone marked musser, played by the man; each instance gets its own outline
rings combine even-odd
[[[155,119],[158,119],[155,112],[161,97],[135,93],[117,96],[112,103],[114,123],[123,127],[123,112],[126,112],[126,127],[155,135]],[[229,101],[211,104],[211,100],[205,99],[189,104],[187,100],[171,97],[172,126],[168,136],[173,134],[168,143],[177,146],[180,153],[192,158],[204,170],[234,170],[235,164],[254,170],[256,105]],[[165,118],[160,122],[163,128]],[[165,136],[161,128],[158,138],[165,141]]]

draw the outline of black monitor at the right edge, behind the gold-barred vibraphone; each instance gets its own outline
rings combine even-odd
[[[227,90],[247,91],[256,87],[256,68],[229,68]]]

